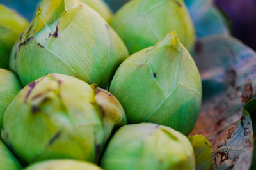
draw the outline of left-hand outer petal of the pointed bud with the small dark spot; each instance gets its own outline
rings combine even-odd
[[[120,68],[109,91],[124,107],[128,122],[143,122],[148,113],[161,103],[164,92],[154,79],[149,64],[125,62]]]

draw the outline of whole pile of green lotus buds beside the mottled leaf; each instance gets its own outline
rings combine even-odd
[[[210,168],[187,137],[202,82],[183,0],[39,6],[30,24],[0,6],[1,170]]]

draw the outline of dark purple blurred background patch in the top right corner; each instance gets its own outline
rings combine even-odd
[[[215,0],[232,20],[232,33],[256,50],[256,1]]]

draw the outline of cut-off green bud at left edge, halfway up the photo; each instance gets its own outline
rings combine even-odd
[[[20,89],[20,82],[15,74],[11,71],[0,69],[0,129],[2,128],[4,112],[7,106],[19,93]]]

